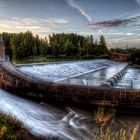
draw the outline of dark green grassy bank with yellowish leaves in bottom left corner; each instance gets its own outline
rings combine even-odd
[[[33,136],[11,115],[0,113],[0,140],[42,140]]]

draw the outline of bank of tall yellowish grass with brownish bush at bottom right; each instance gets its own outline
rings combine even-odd
[[[115,121],[116,110],[107,110],[99,107],[95,111],[95,120],[98,126],[93,135],[94,140],[137,140],[139,137],[139,122],[128,128],[127,124]]]

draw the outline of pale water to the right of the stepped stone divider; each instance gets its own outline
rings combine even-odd
[[[140,89],[140,69],[130,67],[116,88]]]

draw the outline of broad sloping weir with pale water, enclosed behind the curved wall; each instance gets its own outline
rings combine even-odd
[[[25,64],[18,65],[17,69],[25,75],[40,81],[82,86],[100,86],[126,66],[127,63],[110,60],[89,60]]]

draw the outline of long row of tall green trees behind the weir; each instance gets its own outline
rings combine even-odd
[[[93,36],[81,36],[74,33],[53,34],[41,39],[30,31],[25,33],[2,33],[6,54],[11,59],[20,60],[29,56],[100,56],[108,55],[103,35],[99,41]]]

